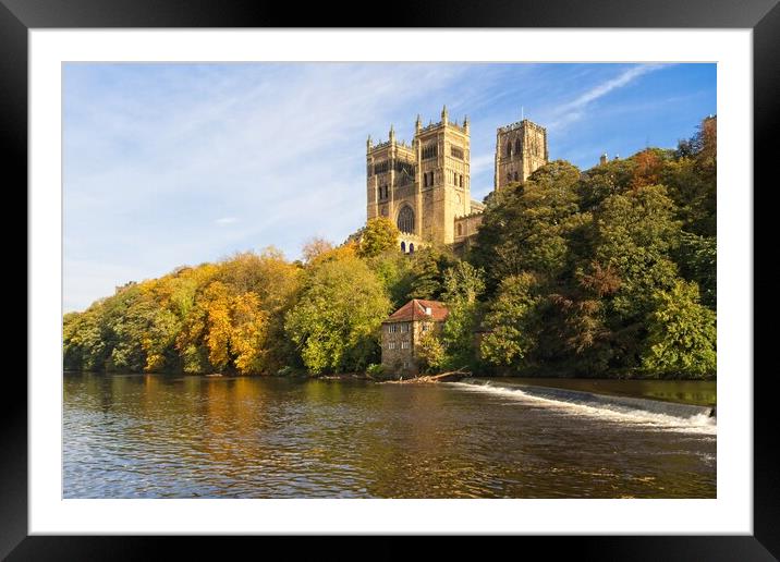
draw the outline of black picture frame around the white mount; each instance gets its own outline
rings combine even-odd
[[[779,0],[545,0],[514,2],[409,3],[404,10],[379,12],[355,10],[355,20],[345,20],[345,10],[334,4],[298,5],[205,0],[0,0],[0,135],[5,147],[5,172],[13,171],[20,183],[27,182],[27,34],[35,28],[117,27],[599,27],[599,28],[751,28],[753,29],[754,80],[754,183],[767,187],[773,163],[771,140],[777,135],[780,108],[780,5]],[[777,174],[772,184],[777,183]],[[749,188],[743,186],[743,188]],[[755,193],[755,191],[754,191]],[[22,203],[22,205],[26,205]],[[754,208],[760,209],[754,205]],[[756,217],[754,224],[759,224]],[[754,239],[761,240],[754,227]],[[756,251],[754,251],[754,256]],[[29,282],[29,280],[28,280]],[[755,281],[756,290],[763,289]],[[27,300],[35,295],[27,292]],[[761,308],[758,315],[768,316]],[[759,337],[755,330],[755,337]],[[756,347],[754,343],[754,349]],[[760,347],[759,347],[760,349]],[[754,365],[755,357],[754,357]],[[755,369],[756,372],[759,372]],[[780,469],[773,459],[775,394],[772,377],[754,377],[754,534],[751,536],[578,536],[513,537],[523,548],[539,546],[548,554],[562,549],[583,560],[777,560],[780,557]],[[210,548],[200,537],[63,537],[28,536],[27,533],[27,384],[16,377],[5,379],[5,401],[0,410],[0,557],[8,560],[131,560],[158,558],[175,540],[176,549],[207,554]],[[10,398],[13,396],[13,398]],[[234,539],[233,539],[234,540]],[[244,538],[242,541],[254,540]],[[265,537],[277,542],[264,545],[297,548],[291,539]],[[387,548],[371,558],[402,554],[407,539],[381,539]],[[504,539],[502,539],[504,540]],[[333,547],[315,539],[313,550]],[[231,543],[231,546],[233,546]],[[453,538],[450,546],[462,549]],[[493,548],[500,545],[492,543]],[[516,549],[516,546],[511,547]],[[270,552],[270,551],[268,551]],[[532,550],[528,550],[532,552]],[[364,557],[359,549],[345,549],[340,558]],[[183,550],[179,557],[188,555]]]

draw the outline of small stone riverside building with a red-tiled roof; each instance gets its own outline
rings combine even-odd
[[[382,322],[382,366],[392,375],[417,375],[417,350],[428,331],[438,331],[449,314],[438,301],[413,298]]]

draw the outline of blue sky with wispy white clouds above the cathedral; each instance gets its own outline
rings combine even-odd
[[[547,127],[551,160],[673,148],[717,112],[715,64],[68,63],[63,307],[127,281],[365,222],[366,138],[471,122],[472,198],[492,191],[496,129]]]

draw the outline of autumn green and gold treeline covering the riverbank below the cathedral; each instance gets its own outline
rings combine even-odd
[[[716,374],[716,129],[581,172],[565,161],[491,193],[465,255],[402,255],[387,219],[303,259],[239,254],[130,283],[64,317],[64,366],[150,372],[352,372],[410,298],[450,316],[429,371]]]

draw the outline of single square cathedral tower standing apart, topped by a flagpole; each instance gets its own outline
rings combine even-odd
[[[496,133],[497,190],[514,182],[524,182],[548,162],[547,130],[524,119],[502,126]]]

